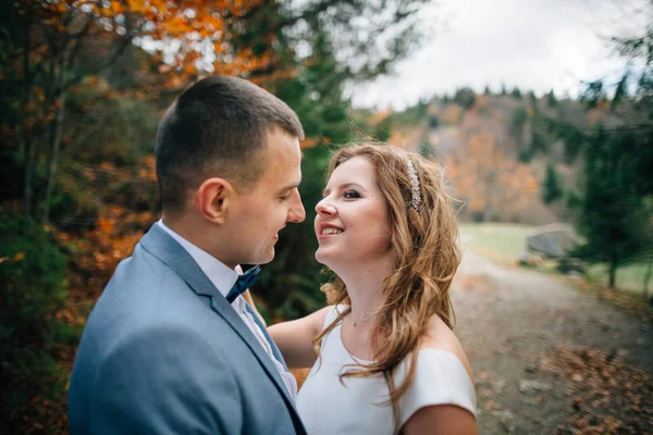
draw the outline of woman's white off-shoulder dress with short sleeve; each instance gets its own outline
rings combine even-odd
[[[331,324],[344,307],[326,314]],[[341,340],[341,325],[322,338],[318,359],[297,395],[297,410],[309,435],[393,434],[392,407],[385,381],[379,377],[344,377],[343,366],[366,363],[352,356]],[[346,370],[346,369],[345,369]],[[396,372],[395,385],[405,376],[405,364]],[[343,385],[344,384],[344,385]],[[465,366],[453,353],[441,349],[422,349],[417,359],[415,381],[399,401],[399,427],[419,409],[432,405],[455,405],[476,417],[473,384]]]

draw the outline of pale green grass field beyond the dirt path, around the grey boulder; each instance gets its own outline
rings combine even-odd
[[[459,225],[464,249],[472,250],[491,260],[514,265],[517,257],[526,250],[526,236],[534,228],[530,225],[485,223]],[[549,269],[549,268],[546,268]],[[607,268],[594,264],[587,270],[590,278],[607,285]],[[617,271],[617,287],[641,294],[646,273],[646,264],[633,263]],[[650,287],[653,286],[650,285]]]

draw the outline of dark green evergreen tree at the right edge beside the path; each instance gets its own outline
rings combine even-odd
[[[648,2],[653,11],[653,3]],[[651,11],[649,11],[651,12]],[[651,15],[649,15],[651,16]],[[653,34],[652,24],[639,36],[613,37],[619,54],[639,70],[627,71],[608,101],[604,80],[589,83],[582,96],[589,108],[612,112],[611,123],[589,132],[565,126],[580,140],[584,162],[584,195],[578,227],[587,237],[579,253],[608,263],[614,288],[619,266],[648,260],[653,250]],[[636,78],[632,95],[627,82]],[[648,283],[644,282],[644,291]]]

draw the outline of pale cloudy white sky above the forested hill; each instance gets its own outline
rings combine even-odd
[[[393,76],[345,94],[354,107],[394,110],[464,86],[576,97],[583,80],[618,79],[624,61],[604,37],[642,28],[646,1],[440,0],[420,12],[429,39]]]

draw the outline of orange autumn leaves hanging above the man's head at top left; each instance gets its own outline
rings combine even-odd
[[[54,40],[74,46],[87,40],[132,37],[149,51],[167,75],[163,86],[177,88],[204,73],[248,76],[272,71],[275,28],[261,30],[256,51],[237,40],[251,29],[252,16],[270,8],[263,0],[53,0],[23,2],[24,16],[56,29]],[[256,24],[256,23],[254,23]],[[88,26],[86,28],[85,26]],[[262,42],[262,44],[261,44]],[[46,47],[35,57],[48,55]]]

